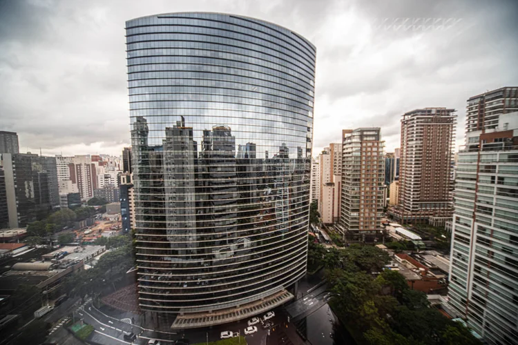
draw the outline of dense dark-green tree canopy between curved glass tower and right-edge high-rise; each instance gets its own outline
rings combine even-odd
[[[385,269],[390,257],[384,250],[318,247],[309,246],[308,266],[324,266],[329,306],[358,344],[481,344],[468,328],[430,307],[427,295],[412,290],[403,275]]]

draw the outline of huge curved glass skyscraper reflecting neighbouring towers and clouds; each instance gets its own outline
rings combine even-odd
[[[140,307],[189,328],[282,304],[306,270],[315,47],[214,13],[126,37]]]

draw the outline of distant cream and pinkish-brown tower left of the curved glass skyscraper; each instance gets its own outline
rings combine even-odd
[[[93,190],[97,188],[97,165],[89,155],[73,157],[68,164],[70,181],[77,185],[82,201],[93,198]]]

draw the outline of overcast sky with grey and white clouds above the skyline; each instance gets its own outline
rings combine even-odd
[[[342,128],[379,126],[399,147],[403,112],[457,109],[518,85],[518,1],[0,0],[0,130],[21,152],[119,155],[128,146],[124,22],[228,12],[277,23],[317,47],[314,152]]]

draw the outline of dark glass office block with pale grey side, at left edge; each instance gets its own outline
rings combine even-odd
[[[32,154],[1,155],[5,176],[10,228],[23,228],[50,211],[49,174],[39,156]]]

